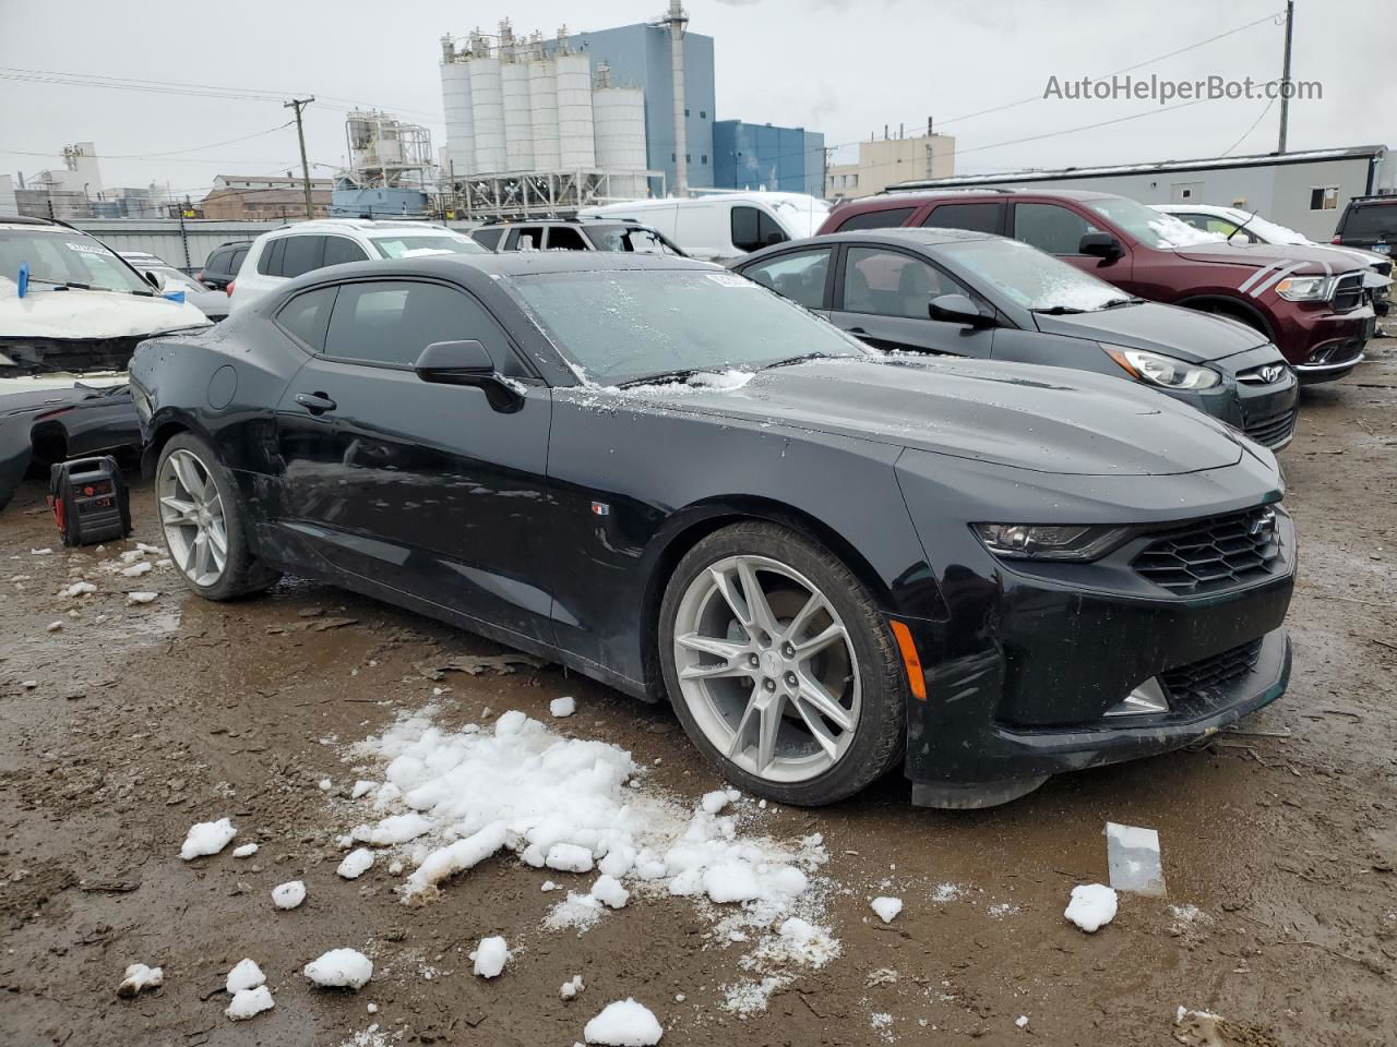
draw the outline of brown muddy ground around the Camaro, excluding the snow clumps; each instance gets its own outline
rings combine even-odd
[[[434,685],[450,688],[448,723],[488,706],[548,720],[550,698],[576,695],[564,733],[630,750],[648,783],[693,803],[718,780],[668,709],[559,669],[434,684],[420,663],[497,648],[317,585],[215,606],[168,570],[123,578],[110,564],[131,543],[63,550],[25,489],[0,518],[0,1044],[566,1047],[619,997],[655,1011],[665,1044],[1171,1044],[1180,1005],[1229,1019],[1218,1043],[1397,1043],[1397,342],[1370,357],[1305,392],[1282,455],[1302,543],[1289,694],[1206,748],[999,810],[918,810],[897,778],[820,811],[746,804],[745,828],[824,835],[844,946],[746,1019],[722,1007],[740,948],[682,899],[636,899],[574,937],[541,928],[546,877],[509,856],[422,907],[383,863],[334,875],[334,836],[355,824],[338,744]],[[147,487],[136,519],[159,542]],[[56,595],[82,575],[95,595]],[[162,595],[127,607],[136,589]],[[316,628],[332,618],[353,623]],[[260,852],[182,861],[190,824],[222,814]],[[1108,819],[1158,829],[1169,898],[1122,895],[1088,937],[1062,910],[1074,884],[1105,882]],[[267,892],[293,878],[309,900],[275,912]],[[937,902],[942,884],[961,893]],[[893,924],[870,921],[875,893],[905,899]],[[488,934],[515,949],[493,981],[467,956]],[[356,995],[299,974],[338,945],[376,960]],[[277,1007],[233,1025],[219,990],[243,956]],[[166,984],[117,1000],[137,960]],[[577,972],[585,991],[560,1001]]]

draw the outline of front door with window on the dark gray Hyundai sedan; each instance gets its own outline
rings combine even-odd
[[[838,268],[830,320],[875,349],[990,356],[993,328],[932,320],[928,306],[942,295],[979,296],[923,258],[894,247],[847,246]]]

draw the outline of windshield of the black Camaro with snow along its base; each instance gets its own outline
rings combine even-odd
[[[507,285],[581,377],[601,385],[868,352],[732,272],[560,272],[515,276]]]

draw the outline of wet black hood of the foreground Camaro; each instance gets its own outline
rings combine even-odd
[[[844,357],[770,367],[725,385],[617,396],[1044,473],[1165,476],[1242,456],[1227,429],[1192,408],[1063,367]]]

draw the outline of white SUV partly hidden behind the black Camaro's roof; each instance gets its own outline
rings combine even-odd
[[[489,254],[464,233],[423,222],[376,222],[366,218],[319,218],[263,233],[247,250],[237,278],[228,286],[232,310],[289,279],[327,265],[369,258],[423,254]]]

